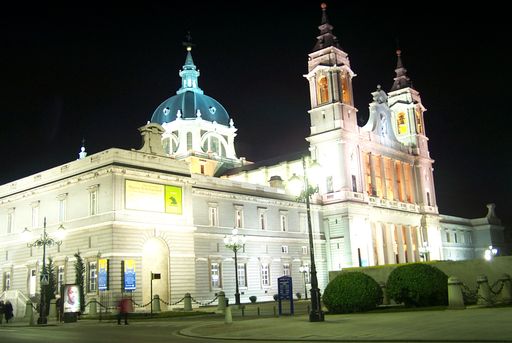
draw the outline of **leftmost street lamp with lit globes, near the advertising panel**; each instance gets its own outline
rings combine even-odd
[[[21,233],[23,238],[26,241],[30,241],[30,230],[25,228],[23,232]],[[66,234],[66,231],[64,229],[64,226],[62,224],[57,229],[57,232],[55,233],[55,236],[57,239],[51,238],[46,233],[46,217],[44,217],[44,223],[43,223],[43,234],[39,239],[36,239],[32,243],[27,243],[27,247],[43,247],[43,269],[41,273],[41,299],[39,303],[39,318],[37,319],[37,324],[46,324],[46,300],[45,300],[45,287],[48,285],[49,277],[48,277],[48,271],[46,270],[46,246],[53,246],[57,245],[60,246],[62,244],[62,240],[64,239],[64,236]]]

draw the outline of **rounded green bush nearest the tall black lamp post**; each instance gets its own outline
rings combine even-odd
[[[382,303],[382,289],[364,273],[341,273],[329,282],[322,299],[330,313],[362,312]]]

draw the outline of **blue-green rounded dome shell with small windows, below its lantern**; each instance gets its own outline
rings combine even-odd
[[[163,124],[176,120],[178,111],[182,119],[195,119],[200,111],[201,118],[229,126],[229,115],[224,106],[208,95],[187,90],[165,100],[157,107],[151,122]]]

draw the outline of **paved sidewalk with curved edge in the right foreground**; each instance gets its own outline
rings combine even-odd
[[[512,307],[327,315],[241,320],[223,319],[186,328],[180,334],[253,341],[512,342]]]

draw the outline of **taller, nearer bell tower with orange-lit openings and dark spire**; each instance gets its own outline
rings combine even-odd
[[[346,135],[354,136],[357,125],[357,109],[354,107],[352,78],[356,74],[350,68],[350,61],[333,34],[333,26],[327,18],[327,5],[322,4],[320,34],[313,51],[309,54],[308,74],[311,109],[311,133],[306,140],[310,143],[311,156],[329,171],[320,193],[354,190],[358,181],[350,171],[357,168],[354,153],[356,143],[345,140]],[[356,173],[359,174],[359,173]]]

